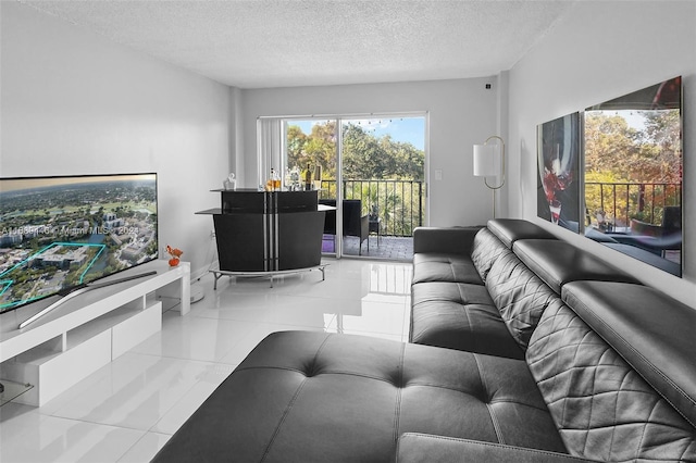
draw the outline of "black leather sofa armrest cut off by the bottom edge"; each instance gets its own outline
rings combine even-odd
[[[575,463],[589,460],[545,450],[406,433],[399,437],[396,461],[397,463]]]

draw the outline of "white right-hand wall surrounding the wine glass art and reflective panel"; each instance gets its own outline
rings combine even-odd
[[[582,1],[510,71],[509,215],[547,226],[614,265],[696,304],[696,2]],[[685,272],[676,278],[536,218],[536,126],[684,77]]]

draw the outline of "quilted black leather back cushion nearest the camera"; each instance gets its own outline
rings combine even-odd
[[[696,461],[694,427],[568,305],[546,309],[526,360],[570,454]]]

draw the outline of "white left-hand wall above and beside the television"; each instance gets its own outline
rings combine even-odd
[[[160,243],[212,259],[229,89],[17,2],[0,2],[0,175],[157,172]]]

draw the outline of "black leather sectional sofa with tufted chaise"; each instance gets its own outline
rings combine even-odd
[[[530,222],[414,251],[411,342],[273,334],[154,461],[696,461],[696,310]]]

